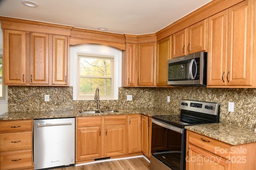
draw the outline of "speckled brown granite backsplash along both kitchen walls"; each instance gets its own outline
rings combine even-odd
[[[256,125],[256,89],[244,88],[119,88],[118,100],[101,100],[101,108],[155,107],[180,112],[181,99],[220,102],[220,121],[254,129]],[[44,102],[44,95],[50,102]],[[126,101],[126,95],[133,95]],[[83,110],[97,107],[95,101],[73,100],[73,88],[55,86],[8,86],[8,111]],[[170,103],[167,102],[170,96]],[[228,111],[234,102],[234,112]]]

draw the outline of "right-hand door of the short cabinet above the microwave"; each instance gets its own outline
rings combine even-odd
[[[188,54],[206,50],[206,30],[208,19],[195,23],[188,27]]]

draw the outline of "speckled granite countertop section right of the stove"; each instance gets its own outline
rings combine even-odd
[[[212,123],[207,125],[192,125],[186,126],[185,129],[230,145],[256,142],[256,132],[254,130],[238,127],[234,124]]]

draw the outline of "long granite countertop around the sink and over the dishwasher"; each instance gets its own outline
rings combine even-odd
[[[61,110],[61,111],[20,111],[6,112],[0,115],[0,120],[18,120],[18,119],[45,119],[60,117],[80,117],[80,116],[98,116],[98,115],[124,115],[124,114],[143,114],[152,117],[153,115],[174,115],[172,111],[155,108],[132,108],[132,109],[114,109],[114,113],[80,113],[79,110]],[[177,113],[176,113],[177,114]]]

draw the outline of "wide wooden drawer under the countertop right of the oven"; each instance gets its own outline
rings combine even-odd
[[[188,133],[188,142],[224,158],[230,158],[230,147],[232,145],[194,132]]]

